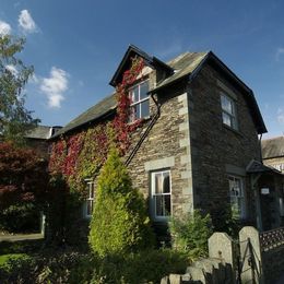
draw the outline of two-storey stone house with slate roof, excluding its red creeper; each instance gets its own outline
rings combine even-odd
[[[210,212],[217,223],[226,206],[260,229],[280,226],[280,217],[263,226],[262,215],[275,214],[270,209],[262,212],[263,179],[279,174],[262,165],[259,135],[267,128],[253,92],[212,51],[186,52],[165,63],[134,46],[126,51],[110,85],[121,82],[134,56],[145,67],[143,80],[129,90],[131,121],[144,118],[144,123],[132,133],[125,159],[134,187],[149,200],[156,227],[163,227],[170,215],[194,209]],[[116,99],[110,95],[51,141],[113,119],[115,113]],[[85,215],[95,202],[96,182],[90,178]],[[282,194],[277,187],[273,184]]]

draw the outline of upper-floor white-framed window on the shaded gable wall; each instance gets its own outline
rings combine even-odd
[[[224,93],[221,93],[222,120],[223,123],[237,129],[237,116],[235,100]]]

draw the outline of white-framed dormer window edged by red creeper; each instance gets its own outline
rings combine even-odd
[[[130,122],[150,116],[147,92],[149,92],[149,80],[143,81],[129,90],[129,96],[131,99],[130,118],[129,118]]]

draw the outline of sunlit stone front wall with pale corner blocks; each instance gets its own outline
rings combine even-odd
[[[190,167],[189,127],[187,93],[184,87],[175,87],[157,97],[161,115],[149,135],[128,166],[133,185],[144,197],[151,197],[151,173],[170,169],[171,211],[174,215],[192,210],[192,182]],[[157,107],[151,98],[151,117]],[[131,137],[132,146],[145,131],[151,118]]]

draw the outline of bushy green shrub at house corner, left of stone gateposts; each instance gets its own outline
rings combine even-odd
[[[213,232],[209,214],[202,216],[199,211],[194,211],[193,214],[173,217],[169,232],[173,247],[178,251],[187,252],[193,259],[208,255],[208,238]]]

